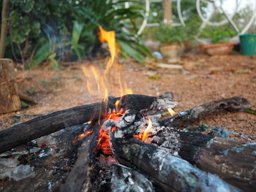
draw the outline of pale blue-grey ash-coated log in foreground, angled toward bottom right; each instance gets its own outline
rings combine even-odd
[[[239,191],[219,177],[139,139],[116,138],[113,131],[110,140],[116,159],[146,174],[159,191]]]

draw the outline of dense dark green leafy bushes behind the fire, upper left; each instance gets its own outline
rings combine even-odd
[[[127,1],[10,0],[6,57],[23,63],[34,57],[27,65],[31,67],[53,53],[57,60],[67,55],[71,55],[72,60],[94,56],[101,46],[97,37],[100,25],[108,31],[116,31],[122,47],[132,42],[128,45],[129,52],[121,48],[123,55],[143,61],[143,55],[150,53],[134,35],[138,30],[135,21],[145,17],[143,7],[140,1],[130,0],[131,6],[124,8],[124,2]]]

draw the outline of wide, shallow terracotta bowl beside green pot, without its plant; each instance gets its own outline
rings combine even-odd
[[[219,44],[200,44],[199,48],[202,53],[207,53],[208,55],[228,55],[233,50],[235,43],[226,42]]]

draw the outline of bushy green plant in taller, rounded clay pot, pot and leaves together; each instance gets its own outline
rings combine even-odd
[[[161,42],[160,52],[169,62],[180,60],[184,53],[184,43],[191,39],[185,26],[161,25],[156,33],[156,39]]]

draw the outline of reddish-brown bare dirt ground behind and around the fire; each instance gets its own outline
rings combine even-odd
[[[87,91],[86,77],[80,65],[92,64],[103,70],[107,61],[108,58],[65,63],[60,71],[42,68],[18,70],[16,80],[19,91],[34,92],[31,97],[38,104],[30,105],[18,112],[0,115],[0,128],[13,125],[15,119],[17,121],[17,116],[47,114],[101,101],[100,96],[91,96]],[[164,61],[148,60],[145,64],[138,64],[132,60],[119,59],[118,62],[122,65],[122,77],[127,81],[129,88],[132,88],[133,93],[159,96],[165,91],[171,91],[174,93],[174,100],[179,102],[176,112],[232,96],[244,96],[251,102],[251,108],[256,109],[256,57],[192,55],[182,58],[179,63],[182,69],[157,66],[157,63]],[[118,96],[115,91],[110,95]],[[26,117],[20,119],[25,120]],[[255,115],[225,112],[208,117],[203,123],[253,136],[252,142],[256,142]]]

